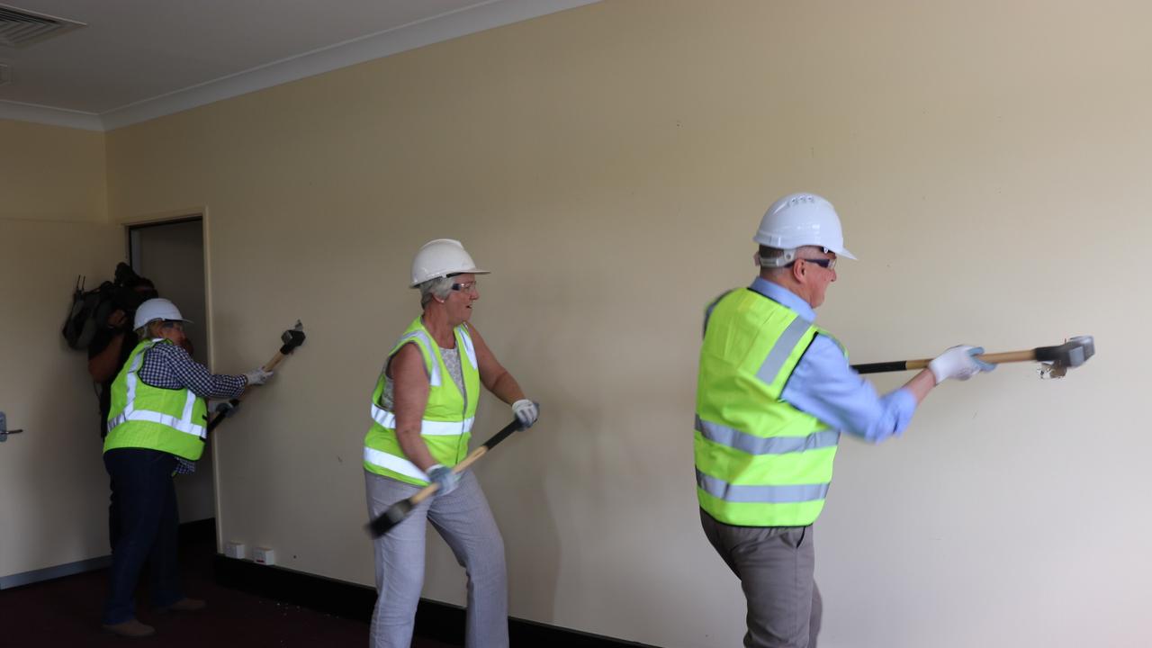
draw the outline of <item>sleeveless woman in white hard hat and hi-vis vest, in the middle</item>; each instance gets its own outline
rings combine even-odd
[[[424,521],[429,520],[468,572],[469,648],[508,646],[508,582],[503,540],[480,484],[452,467],[468,454],[468,439],[483,384],[511,405],[525,427],[536,405],[497,361],[469,322],[479,299],[479,270],[450,239],[424,244],[412,261],[411,287],[423,314],[388,353],[372,394],[373,423],[364,439],[364,479],[370,519],[439,484],[388,534],[376,540],[376,611],[371,643],[408,648],[424,583]]]

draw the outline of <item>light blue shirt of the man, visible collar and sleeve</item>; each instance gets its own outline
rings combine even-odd
[[[788,288],[759,277],[749,288],[816,322],[816,310]],[[848,366],[840,346],[824,334],[812,339],[780,398],[834,429],[872,443],[899,437],[916,412],[910,390],[877,394],[872,384]]]

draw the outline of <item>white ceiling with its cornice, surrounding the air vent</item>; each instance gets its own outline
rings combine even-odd
[[[0,0],[88,23],[0,46],[0,119],[119,128],[592,1]]]

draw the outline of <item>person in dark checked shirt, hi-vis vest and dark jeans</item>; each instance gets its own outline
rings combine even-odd
[[[112,383],[104,465],[112,477],[113,518],[119,520],[108,572],[104,628],[146,636],[152,626],[136,619],[132,593],[150,563],[152,602],[162,610],[191,611],[204,601],[188,598],[176,567],[175,474],[195,470],[207,438],[207,398],[234,398],[263,385],[271,371],[213,375],[183,348],[189,323],[170,301],[147,300],[136,310],[139,344]]]

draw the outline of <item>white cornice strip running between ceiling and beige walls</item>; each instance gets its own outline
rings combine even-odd
[[[433,43],[563,12],[599,0],[488,0],[99,114],[0,100],[0,119],[85,130],[114,130],[281,83],[389,56]]]

